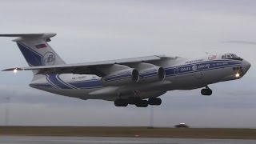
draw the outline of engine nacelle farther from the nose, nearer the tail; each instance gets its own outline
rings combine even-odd
[[[120,86],[133,82],[138,82],[138,80],[138,70],[130,68],[114,71],[113,73],[107,74],[105,77],[102,78],[102,83],[105,86]]]

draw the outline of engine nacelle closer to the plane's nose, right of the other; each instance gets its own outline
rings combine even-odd
[[[158,82],[166,78],[166,71],[159,66],[139,71],[139,82]]]

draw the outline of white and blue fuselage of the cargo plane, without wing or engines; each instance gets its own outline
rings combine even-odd
[[[133,82],[122,86],[104,86],[102,78],[92,74],[35,75],[30,86],[54,94],[82,99],[156,98],[168,90],[192,90],[216,82],[241,78],[246,73],[245,60],[223,59],[222,55],[204,58],[176,58],[152,62],[162,66],[166,77],[158,82]],[[235,77],[242,70],[241,77]]]

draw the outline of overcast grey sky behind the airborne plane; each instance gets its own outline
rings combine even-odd
[[[154,107],[155,126],[256,128],[255,1],[0,1],[1,32],[55,32],[50,45],[67,62],[90,62],[153,54],[197,57],[233,52],[251,62],[238,81],[200,90],[170,91]],[[236,43],[239,42],[239,43]],[[0,38],[0,69],[27,66],[11,38]],[[117,108],[34,90],[32,74],[1,73],[0,115],[10,102],[11,125],[148,126],[150,108]],[[0,125],[4,125],[4,117]]]

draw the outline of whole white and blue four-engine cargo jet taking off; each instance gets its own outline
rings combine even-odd
[[[102,62],[66,64],[48,42],[54,33],[0,34],[16,37],[29,66],[3,71],[32,70],[30,86],[68,97],[102,99],[115,106],[146,107],[161,105],[158,98],[169,90],[202,88],[211,95],[209,85],[242,78],[250,62],[236,54],[206,54],[202,58],[154,55]]]

